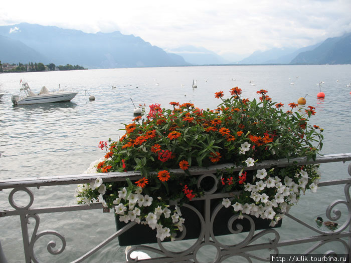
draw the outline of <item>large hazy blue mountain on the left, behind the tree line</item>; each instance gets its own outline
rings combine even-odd
[[[60,29],[21,23],[13,26],[1,26],[2,40],[17,41],[18,48],[11,44],[0,49],[0,60],[9,63],[36,61],[56,65],[80,65],[85,68],[126,68],[126,67],[164,67],[188,65],[178,55],[168,54],[161,48],[152,46],[133,35],[113,33],[88,34],[78,30]],[[6,37],[6,38],[4,38]],[[6,58],[7,53],[14,53],[24,48],[28,53],[19,61],[18,56]],[[25,47],[27,46],[27,47]],[[38,55],[40,54],[40,56]],[[44,59],[47,58],[47,59]]]

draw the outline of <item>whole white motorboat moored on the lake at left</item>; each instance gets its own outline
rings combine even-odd
[[[24,97],[20,97],[19,95],[13,95],[11,100],[13,104],[16,105],[25,105],[25,104],[36,104],[36,103],[52,103],[52,102],[63,102],[72,100],[78,92],[67,92],[67,91],[57,91],[57,92],[49,92],[49,90],[44,86],[39,94],[35,94],[31,91],[28,83],[26,81],[22,81],[22,88],[25,92]]]

